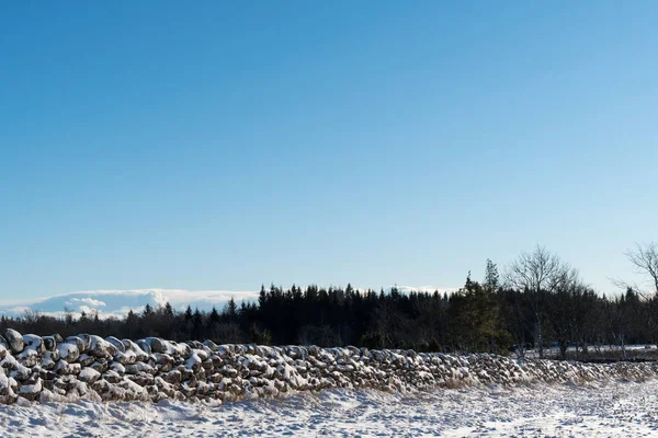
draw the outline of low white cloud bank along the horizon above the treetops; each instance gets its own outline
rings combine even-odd
[[[365,290],[360,288],[360,290]],[[385,290],[389,291],[390,288]],[[431,286],[412,287],[398,286],[404,293],[410,291],[440,292],[456,289],[438,288]],[[132,289],[132,290],[90,290],[56,295],[33,300],[0,300],[0,315],[23,316],[26,313],[63,318],[70,313],[79,318],[82,312],[98,313],[99,318],[123,318],[132,310],[141,312],[146,304],[152,308],[163,307],[169,302],[177,311],[184,311],[188,306],[192,309],[209,311],[213,307],[222,310],[232,298],[238,303],[241,301],[256,301],[258,291],[238,290],[185,290],[185,289]]]

